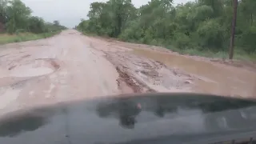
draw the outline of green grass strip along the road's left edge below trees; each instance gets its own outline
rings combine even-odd
[[[0,34],[0,45],[12,42],[25,42],[42,38],[50,38],[61,31],[54,31],[43,34],[19,33],[19,34]]]

